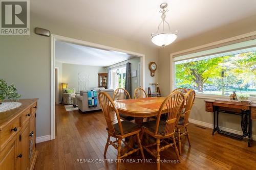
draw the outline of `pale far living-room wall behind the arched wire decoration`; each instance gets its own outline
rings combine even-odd
[[[86,73],[89,76],[89,89],[98,87],[98,73],[107,72],[104,67],[62,64],[62,81],[68,83],[68,88],[75,88],[78,91],[78,74]]]

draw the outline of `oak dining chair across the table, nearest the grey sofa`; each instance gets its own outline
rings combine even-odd
[[[113,93],[113,100],[126,100],[126,99],[131,99],[131,96],[129,94],[129,92],[127,90],[125,90],[124,88],[117,88],[114,93]],[[134,117],[132,116],[126,116],[124,114],[119,113],[119,116],[121,119],[123,120],[134,120]]]

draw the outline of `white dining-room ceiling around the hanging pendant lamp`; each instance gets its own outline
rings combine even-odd
[[[168,3],[166,20],[171,31],[179,31],[176,41],[256,15],[255,0],[30,1],[31,12],[49,20],[151,45],[163,2]]]

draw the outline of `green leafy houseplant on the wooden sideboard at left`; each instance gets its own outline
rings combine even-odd
[[[5,99],[17,101],[20,96],[14,84],[8,86],[5,80],[0,79],[0,104],[2,104]]]

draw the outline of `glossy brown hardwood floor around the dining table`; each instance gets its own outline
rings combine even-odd
[[[116,169],[116,163],[85,163],[84,160],[103,160],[108,134],[101,111],[81,113],[65,110],[56,105],[55,140],[36,144],[39,151],[35,169]],[[212,129],[190,124],[188,130],[191,148],[183,137],[181,163],[161,163],[161,169],[254,169],[256,141],[248,148],[246,141],[220,134],[211,135]],[[155,159],[144,151],[147,160]],[[117,150],[109,147],[106,159],[115,160]],[[174,149],[160,153],[162,160],[176,160]],[[82,163],[77,162],[81,159]],[[140,154],[125,158],[139,161]],[[127,161],[127,160],[126,160]],[[156,163],[120,163],[120,169],[156,169]]]

